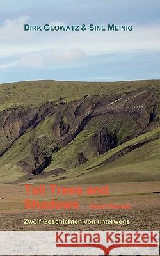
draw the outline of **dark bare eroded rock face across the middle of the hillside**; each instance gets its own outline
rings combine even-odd
[[[51,118],[54,118],[51,134],[39,132],[38,136],[31,136],[29,156],[17,162],[26,173],[39,175],[44,172],[53,154],[65,148],[87,125],[95,127],[97,124],[91,142],[96,156],[159,127],[159,93],[144,88],[122,95],[86,95],[74,102],[44,102],[34,108],[17,106],[1,111],[0,157],[7,154],[17,140],[36,131],[38,125]],[[128,150],[131,148],[125,148],[125,154]],[[75,166],[90,160],[81,150],[76,154]],[[50,174],[56,175],[58,170],[63,172],[64,169],[57,168]]]

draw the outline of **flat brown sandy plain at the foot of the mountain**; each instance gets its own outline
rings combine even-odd
[[[35,185],[34,185],[35,186]],[[90,186],[90,185],[89,185]],[[106,186],[93,185],[93,186]],[[108,184],[108,195],[88,196],[54,196],[47,184],[45,195],[26,195],[24,184],[0,185],[0,230],[159,230],[160,182],[134,182]],[[85,191],[87,186],[83,186]],[[77,200],[80,208],[77,210],[26,210],[24,200]],[[131,209],[90,209],[92,205],[130,205]],[[79,225],[24,225],[24,219],[82,220]],[[84,220],[95,220],[95,223],[84,224]],[[98,224],[97,220],[129,220],[129,225]]]

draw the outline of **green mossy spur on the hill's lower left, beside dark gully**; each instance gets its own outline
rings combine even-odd
[[[46,140],[52,142],[48,146],[46,140],[40,141],[40,148],[45,148],[45,154],[51,154],[51,150],[54,143],[54,134],[52,132],[52,125],[54,124],[54,117],[45,118],[40,122],[35,129],[23,134],[18,140],[16,140],[12,146],[7,150],[7,154],[4,154],[0,158],[0,180],[1,182],[15,182],[16,180],[25,180],[26,173],[22,172],[19,166],[19,161],[28,159],[29,164],[35,164],[33,159],[32,147],[35,141],[45,136]]]

